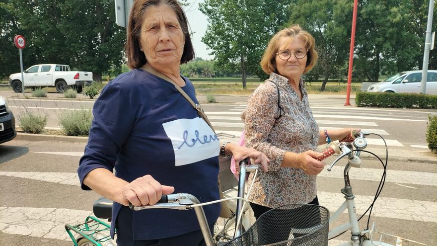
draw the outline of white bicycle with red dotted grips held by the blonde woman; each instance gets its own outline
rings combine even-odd
[[[364,149],[367,147],[367,141],[365,140],[365,136],[371,134],[379,136],[384,141],[385,148],[386,148],[385,164],[375,154],[369,151],[364,151]],[[361,152],[369,153],[375,156],[381,162],[384,169],[373,202],[370,204],[369,208],[364,212],[364,214],[358,219],[356,213],[356,206],[355,206],[355,195],[352,191],[352,185],[349,179],[349,171],[352,167],[356,167],[356,168],[361,167],[362,164],[362,160],[360,158]],[[336,163],[338,163],[338,161],[340,161],[342,158],[348,157],[348,164],[346,164],[344,168],[344,175],[343,175],[345,181],[345,187],[341,190],[341,192],[345,195],[345,201],[329,218],[329,225],[332,225],[345,210],[348,211],[349,222],[330,229],[328,234],[329,240],[334,239],[347,231],[351,231],[351,240],[349,242],[341,244],[340,246],[402,246],[403,241],[425,246],[425,244],[416,241],[403,239],[401,237],[397,237],[391,234],[379,232],[376,230],[375,223],[372,223],[372,227],[369,229],[368,225],[369,225],[369,220],[370,220],[373,205],[376,199],[378,198],[379,194],[381,193],[381,190],[385,182],[385,174],[386,174],[387,160],[388,160],[388,149],[384,138],[374,133],[364,134],[363,132],[352,131],[348,137],[340,140],[339,144],[331,143],[321,153],[323,154],[323,157],[318,158],[317,160],[319,161],[322,161],[334,154],[340,154],[340,156],[337,159],[335,159],[334,162],[327,168],[328,171],[331,171],[333,166]],[[369,215],[367,220],[367,227],[364,230],[360,230],[358,221],[361,218],[363,218],[368,211],[369,211]],[[374,240],[373,237],[374,233],[380,235],[379,239]],[[382,242],[383,236],[395,238],[396,240],[395,245]]]

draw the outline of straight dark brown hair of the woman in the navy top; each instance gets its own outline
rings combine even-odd
[[[181,64],[194,59],[194,47],[191,42],[190,32],[188,31],[187,16],[177,0],[135,0],[129,15],[127,28],[126,55],[128,57],[128,67],[137,69],[146,64],[146,56],[141,51],[141,27],[144,21],[144,13],[150,6],[168,5],[174,9],[185,37],[184,52],[181,57]]]

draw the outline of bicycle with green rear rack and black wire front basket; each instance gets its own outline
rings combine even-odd
[[[207,246],[251,246],[251,245],[277,245],[286,246],[297,244],[300,246],[326,246],[328,243],[328,218],[329,211],[321,206],[316,205],[285,205],[262,215],[250,228],[244,231],[242,225],[243,212],[247,209],[242,201],[247,200],[244,197],[245,176],[246,172],[255,172],[256,176],[259,165],[248,165],[247,161],[240,162],[240,176],[238,181],[238,196],[220,199],[217,201],[201,204],[199,200],[186,193],[177,193],[163,195],[158,203],[154,205],[146,205],[135,207],[131,205],[131,209],[138,211],[143,209],[178,209],[188,210],[194,209],[199,225],[204,236]],[[251,186],[253,185],[253,182]],[[250,194],[249,188],[248,195]],[[235,233],[228,242],[218,242],[217,234],[213,238],[210,232],[208,222],[202,206],[223,202],[231,199],[237,199],[236,212],[234,216]],[[93,210],[97,217],[110,217],[110,208],[112,202],[105,198],[100,198],[94,203]],[[302,214],[301,211],[304,210]],[[312,219],[308,219],[313,215]],[[300,218],[299,218],[300,217]],[[304,217],[304,218],[303,218]],[[297,218],[298,221],[306,221],[301,224],[304,229],[292,228],[290,218]],[[87,217],[84,223],[76,226],[66,225],[66,230],[69,233],[75,246],[113,246],[109,237],[109,225],[96,219],[95,217]],[[277,230],[278,228],[286,228],[285,230]],[[72,231],[79,235],[74,238]],[[284,233],[285,231],[285,233]],[[104,236],[104,233],[106,233]],[[215,241],[216,239],[216,241]]]

